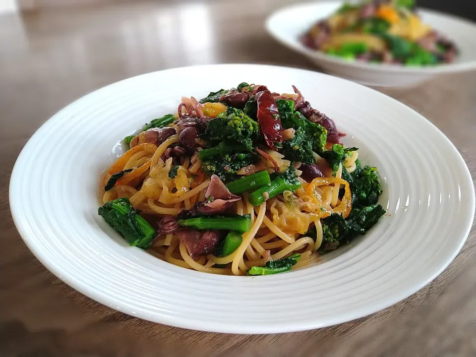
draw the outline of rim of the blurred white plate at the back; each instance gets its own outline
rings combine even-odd
[[[334,63],[336,65],[345,66],[348,68],[356,68],[356,69],[368,69],[368,70],[375,70],[378,72],[393,72],[393,73],[402,73],[402,74],[421,74],[421,75],[432,75],[432,74],[439,74],[439,73],[459,73],[459,72],[467,72],[476,69],[476,60],[467,61],[467,62],[454,62],[454,63],[444,63],[444,64],[437,64],[433,66],[401,66],[396,64],[386,64],[386,63],[368,63],[364,61],[347,61],[340,59],[339,57],[333,57],[326,55],[320,51],[311,50],[306,48],[302,45],[299,41],[288,42],[281,36],[279,36],[275,31],[273,26],[271,25],[274,18],[282,13],[285,13],[291,9],[297,8],[307,8],[313,6],[322,6],[326,4],[338,4],[344,3],[345,1],[342,0],[323,0],[323,1],[307,1],[302,3],[296,3],[292,5],[283,6],[281,8],[276,9],[273,11],[266,19],[264,20],[264,27],[268,34],[281,45],[292,49],[293,51],[306,56],[312,60],[319,60]],[[449,18],[454,21],[463,22],[466,25],[470,25],[475,27],[476,30],[476,23],[468,20],[463,17],[459,17],[453,14],[447,14],[442,11],[432,10],[425,7],[418,7],[418,11],[423,13],[428,13],[431,15],[436,15],[444,18]],[[389,85],[391,86],[391,85]]]

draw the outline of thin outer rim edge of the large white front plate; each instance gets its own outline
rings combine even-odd
[[[203,69],[203,68],[211,68],[211,67],[216,67],[216,66],[222,66],[222,67],[235,67],[235,66],[255,66],[256,67],[256,66],[261,66],[261,67],[273,67],[273,68],[276,68],[278,70],[286,68],[286,69],[291,69],[293,71],[307,72],[309,74],[311,74],[311,73],[316,74],[317,73],[316,75],[319,75],[319,76],[329,76],[329,77],[337,78],[339,81],[350,82],[353,85],[361,86],[361,87],[365,88],[365,90],[371,90],[371,91],[375,92],[376,95],[386,97],[387,100],[393,101],[394,103],[396,103],[396,105],[401,105],[401,106],[406,107],[407,110],[412,111],[414,115],[419,117],[419,120],[426,121],[427,124],[430,124],[433,127],[433,129],[435,129],[438,132],[438,134],[440,136],[442,136],[441,139],[445,140],[447,142],[447,144],[449,144],[452,147],[453,154],[456,155],[456,157],[458,157],[458,160],[460,161],[460,163],[463,164],[463,167],[465,167],[464,175],[463,174],[461,175],[461,179],[465,179],[465,180],[468,180],[469,182],[473,183],[473,179],[472,179],[472,176],[471,176],[471,172],[469,171],[468,165],[466,164],[466,161],[464,160],[464,158],[462,157],[462,155],[460,154],[458,149],[446,137],[446,135],[438,127],[436,127],[431,121],[424,118],[422,115],[417,113],[414,109],[412,109],[412,108],[408,107],[407,105],[399,102],[398,100],[396,100],[396,99],[394,99],[394,98],[392,98],[392,97],[390,97],[390,96],[388,96],[384,93],[378,92],[374,89],[365,87],[361,84],[352,82],[350,80],[335,77],[335,76],[328,75],[328,74],[325,74],[325,73],[318,73],[318,72],[315,72],[315,71],[312,71],[312,70],[293,68],[293,67],[288,67],[288,66],[254,64],[254,63],[231,63],[231,64],[208,64],[208,65],[197,65],[197,66],[185,66],[185,67],[170,68],[170,69],[159,70],[159,71],[154,71],[154,72],[149,72],[149,73],[143,73],[143,74],[139,74],[139,75],[136,75],[136,76],[133,76],[133,77],[130,77],[130,78],[125,78],[125,79],[119,80],[117,82],[111,83],[111,84],[106,85],[104,87],[101,87],[99,89],[93,90],[93,91],[85,94],[84,96],[81,96],[80,98],[72,101],[71,103],[69,103],[65,107],[63,107],[60,111],[58,111],[50,119],[45,121],[45,123],[43,123],[35,131],[35,133],[29,138],[28,142],[22,148],[20,154],[18,155],[17,160],[15,161],[15,165],[14,165],[13,170],[11,172],[10,181],[9,181],[9,204],[10,204],[10,211],[11,211],[11,215],[12,215],[12,218],[13,218],[13,222],[15,224],[15,227],[16,227],[20,237],[23,239],[23,241],[28,246],[30,251],[35,255],[35,257],[50,272],[52,272],[55,276],[57,276],[61,281],[63,281],[64,283],[66,283],[67,285],[69,285],[71,288],[78,291],[79,293],[81,293],[81,294],[83,294],[87,297],[90,297],[90,298],[94,299],[95,301],[100,302],[101,304],[109,306],[109,307],[111,307],[111,308],[113,308],[117,311],[126,313],[128,315],[131,315],[131,316],[134,316],[134,317],[139,317],[139,318],[142,318],[144,320],[151,321],[151,322],[162,323],[162,324],[166,324],[166,325],[169,325],[169,326],[187,328],[187,329],[192,329],[192,330],[197,330],[197,331],[208,331],[208,332],[218,332],[218,333],[239,333],[239,334],[283,333],[283,332],[304,331],[304,330],[310,330],[310,329],[314,329],[314,328],[332,326],[332,325],[336,325],[336,324],[339,324],[339,323],[352,321],[352,320],[355,320],[357,318],[365,317],[365,316],[368,316],[372,313],[378,312],[378,311],[380,311],[384,308],[390,307],[390,306],[394,305],[395,303],[397,303],[397,302],[415,294],[421,288],[423,288],[424,286],[429,284],[431,281],[433,281],[439,274],[441,274],[441,272],[443,270],[445,270],[448,267],[448,265],[458,255],[458,253],[461,251],[461,248],[463,247],[464,243],[466,242],[466,239],[468,238],[469,233],[471,232],[471,229],[473,227],[473,222],[474,222],[474,218],[475,218],[474,217],[475,216],[475,201],[476,201],[475,200],[474,184],[469,185],[469,187],[471,187],[471,191],[472,191],[472,192],[469,192],[469,193],[471,193],[472,195],[471,195],[471,198],[469,198],[469,202],[468,202],[469,206],[470,206],[470,211],[468,213],[471,213],[471,217],[469,217],[468,220],[467,220],[468,224],[467,224],[467,227],[466,227],[466,230],[465,230],[464,237],[461,240],[460,244],[454,249],[453,253],[451,254],[451,258],[447,259],[444,264],[440,264],[437,268],[432,269],[431,270],[433,272],[432,275],[430,277],[427,277],[424,282],[423,282],[423,279],[420,279],[419,283],[408,286],[406,289],[402,289],[399,292],[399,294],[395,294],[393,296],[393,298],[388,298],[387,300],[382,300],[382,301],[380,301],[380,304],[376,304],[372,308],[367,308],[367,309],[363,309],[363,310],[356,310],[356,311],[353,311],[353,314],[348,314],[348,315],[346,315],[346,317],[343,316],[342,318],[330,318],[324,324],[322,324],[322,323],[317,324],[315,322],[314,323],[305,323],[305,321],[299,321],[297,323],[289,323],[284,327],[281,326],[281,325],[276,326],[276,327],[268,326],[267,329],[264,330],[264,331],[256,331],[252,327],[250,327],[249,325],[247,326],[247,325],[241,324],[241,323],[233,325],[232,323],[225,324],[225,323],[222,323],[222,322],[215,322],[215,321],[210,322],[209,321],[209,322],[207,322],[207,324],[202,324],[202,325],[198,326],[198,324],[194,323],[193,320],[190,322],[190,320],[188,320],[186,318],[177,318],[177,317],[176,318],[170,318],[168,316],[162,315],[162,316],[160,316],[160,318],[151,319],[150,318],[151,316],[148,316],[147,312],[142,312],[140,310],[137,311],[137,312],[134,312],[130,308],[127,308],[127,307],[123,308],[122,306],[118,306],[117,304],[114,304],[115,297],[107,296],[107,295],[97,291],[94,288],[91,289],[89,287],[89,284],[83,283],[83,282],[78,281],[78,280],[75,280],[74,277],[64,276],[61,273],[61,266],[60,265],[55,265],[51,261],[49,261],[48,256],[47,256],[47,254],[45,254],[44,251],[36,251],[33,248],[34,238],[26,237],[26,235],[24,234],[25,227],[23,227],[22,222],[19,220],[18,213],[15,212],[15,209],[17,208],[17,206],[13,202],[14,197],[12,195],[12,190],[13,190],[14,185],[15,185],[15,179],[19,175],[19,171],[21,169],[20,168],[20,164],[21,164],[20,158],[22,156],[26,155],[28,150],[30,150],[29,143],[32,141],[32,139],[35,136],[40,135],[42,130],[46,130],[48,125],[51,125],[51,123],[54,122],[54,120],[56,120],[55,118],[60,117],[60,114],[63,111],[66,111],[73,104],[77,104],[78,101],[85,100],[85,98],[87,99],[87,97],[89,97],[91,94],[93,94],[95,92],[98,92],[98,91],[101,91],[101,90],[104,90],[107,87],[114,86],[118,83],[127,81],[127,80],[132,79],[132,78],[137,78],[137,77],[141,77],[141,76],[149,76],[149,75],[156,74],[156,73],[159,73],[159,72],[179,71],[179,70],[182,70],[184,68],[187,68],[187,69],[193,68],[193,69],[196,70],[196,69],[200,69],[200,68]],[[243,278],[247,279],[248,277],[231,277],[231,278],[232,279],[243,279]],[[260,329],[262,329],[262,328],[260,327]]]

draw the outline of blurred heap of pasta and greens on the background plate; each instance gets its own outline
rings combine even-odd
[[[423,23],[414,0],[346,2],[301,38],[312,49],[347,60],[431,65],[456,59],[455,44]]]

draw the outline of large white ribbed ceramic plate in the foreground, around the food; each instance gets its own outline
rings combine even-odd
[[[213,74],[213,75],[212,75]],[[317,266],[275,276],[187,270],[130,247],[97,215],[101,173],[119,140],[150,119],[242,81],[294,84],[378,167],[388,215]],[[56,276],[116,310],[184,328],[278,333],[368,315],[421,289],[456,256],[475,212],[473,181],[451,142],[412,109],[312,71],[228,64],[144,74],[99,89],[48,120],[22,150],[10,207],[31,251]]]

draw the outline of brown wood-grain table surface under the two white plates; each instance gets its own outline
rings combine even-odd
[[[261,336],[188,331],[116,312],[63,284],[19,237],[8,180],[45,120],[96,88],[164,68],[219,62],[313,68],[263,29],[265,16],[289,2],[135,2],[0,17],[1,356],[476,355],[474,229],[453,263],[412,297],[342,325]],[[385,93],[438,126],[476,177],[476,73]]]

